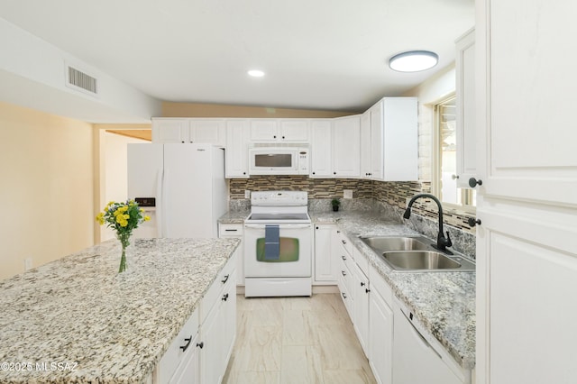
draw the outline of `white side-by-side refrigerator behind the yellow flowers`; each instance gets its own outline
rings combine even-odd
[[[227,211],[224,150],[211,144],[128,144],[128,197],[151,221],[136,237],[218,237]]]

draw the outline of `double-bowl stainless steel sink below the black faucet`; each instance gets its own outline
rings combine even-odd
[[[437,251],[422,236],[360,237],[390,268],[398,271],[471,271],[475,264],[458,255]]]

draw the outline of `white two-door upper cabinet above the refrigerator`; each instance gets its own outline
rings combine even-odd
[[[152,142],[226,144],[224,119],[153,118]]]

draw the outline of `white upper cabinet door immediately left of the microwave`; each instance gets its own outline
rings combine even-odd
[[[226,178],[249,177],[248,120],[226,122]]]

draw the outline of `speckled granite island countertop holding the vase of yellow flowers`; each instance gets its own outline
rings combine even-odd
[[[0,382],[140,383],[238,239],[102,242],[0,281]]]

